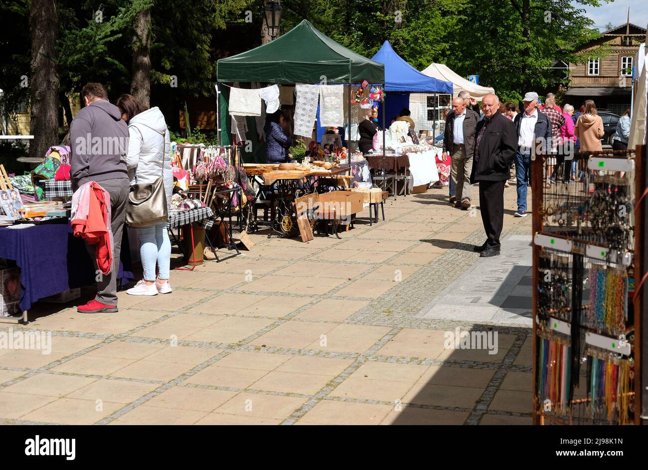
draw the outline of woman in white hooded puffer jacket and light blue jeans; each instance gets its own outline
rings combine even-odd
[[[153,183],[164,177],[167,204],[171,201],[173,172],[171,169],[170,138],[162,112],[146,108],[132,95],[121,95],[117,107],[122,119],[128,124],[128,155],[126,165],[131,184]],[[164,167],[164,168],[163,168]],[[168,277],[171,263],[171,242],[167,224],[138,228],[139,253],[142,259],[144,279],[126,293],[133,296],[156,296],[171,292]],[[157,264],[157,277],[156,277]]]

